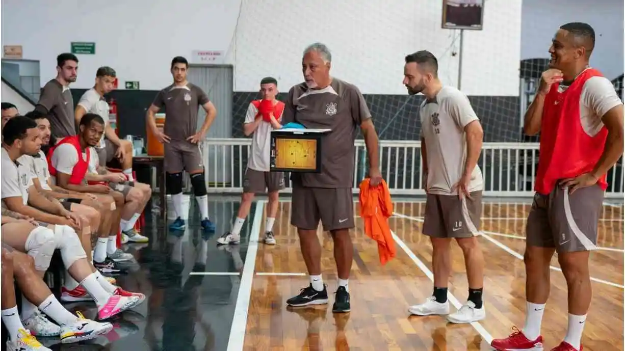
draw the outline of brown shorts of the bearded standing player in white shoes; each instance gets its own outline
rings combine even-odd
[[[467,238],[479,234],[482,192],[471,199],[458,195],[427,194],[423,234],[434,238]]]

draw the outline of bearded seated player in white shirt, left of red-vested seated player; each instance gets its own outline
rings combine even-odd
[[[50,142],[51,130],[50,121],[46,115],[39,111],[28,112],[25,117],[29,117],[37,123],[39,136],[41,136],[42,145],[48,145]],[[32,182],[35,188],[43,193],[48,194],[59,200],[63,206],[77,214],[84,214],[89,217],[91,232],[98,233],[98,237],[108,241],[106,245],[106,255],[115,261],[124,261],[133,259],[133,255],[126,254],[117,247],[117,235],[109,236],[111,231],[110,224],[106,226],[106,222],[110,222],[114,211],[111,210],[111,202],[113,198],[109,198],[109,203],[101,204],[98,197],[93,194],[80,193],[72,190],[66,190],[51,182],[50,171],[47,165],[46,155],[42,150],[38,154],[30,157],[30,168],[33,175]],[[24,156],[26,157],[26,156]],[[104,230],[99,230],[104,227]],[[99,247],[101,249],[101,247]]]

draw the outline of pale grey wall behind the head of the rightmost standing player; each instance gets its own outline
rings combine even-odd
[[[594,28],[593,67],[608,79],[623,73],[622,0],[523,0],[521,58],[549,57],[552,37],[567,22],[586,22]]]

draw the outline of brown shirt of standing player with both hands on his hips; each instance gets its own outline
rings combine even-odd
[[[184,141],[197,132],[199,107],[209,102],[206,92],[200,87],[187,83],[186,86],[166,87],[156,94],[154,106],[165,107],[163,132],[171,140]]]

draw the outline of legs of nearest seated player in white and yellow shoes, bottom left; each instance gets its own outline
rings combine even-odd
[[[44,229],[43,227],[39,227]],[[27,220],[2,216],[2,231],[24,235],[36,227]],[[49,229],[45,229],[49,230]],[[17,313],[14,280],[22,291],[22,315]],[[38,307],[36,307],[38,306]],[[54,320],[54,324],[48,320]],[[2,243],[2,321],[9,330],[8,350],[47,350],[34,342],[36,335],[60,337],[63,344],[90,340],[113,329],[110,323],[94,322],[66,310],[34,267],[33,256]],[[21,347],[23,349],[21,349]],[[32,349],[28,349],[32,347]]]

